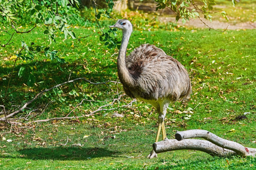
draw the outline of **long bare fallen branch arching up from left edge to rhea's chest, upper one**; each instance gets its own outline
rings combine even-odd
[[[21,110],[25,109],[25,108],[27,107],[27,105],[31,104],[34,100],[36,100],[36,99],[38,99],[39,97],[41,97],[45,92],[48,92],[48,91],[50,91],[50,90],[52,90],[52,89],[54,89],[54,88],[56,88],[56,87],[59,87],[59,86],[61,86],[61,85],[65,85],[65,84],[67,84],[67,83],[74,82],[74,81],[77,81],[77,80],[85,80],[86,82],[89,82],[90,84],[93,84],[93,85],[104,84],[104,85],[106,85],[107,87],[109,87],[109,86],[107,85],[108,82],[114,82],[114,81],[106,81],[106,82],[97,82],[97,83],[95,83],[95,82],[91,82],[90,80],[87,80],[86,78],[76,78],[76,79],[74,79],[74,80],[69,80],[69,81],[67,81],[67,82],[63,82],[63,83],[61,83],[61,84],[55,85],[54,87],[51,87],[51,88],[49,88],[49,89],[46,89],[46,90],[43,90],[43,91],[39,92],[32,100],[26,102],[19,110],[16,110],[15,112],[10,113],[10,114],[7,115],[6,117],[0,117],[0,121],[4,121],[4,120],[6,120],[6,118],[11,117],[11,116],[17,114],[18,112],[20,112]],[[110,87],[109,87],[109,88],[110,88]],[[111,88],[110,88],[110,89],[111,89]]]

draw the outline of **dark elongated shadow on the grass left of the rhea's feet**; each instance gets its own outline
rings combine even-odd
[[[58,148],[28,148],[19,150],[22,158],[32,160],[90,160],[101,157],[119,157],[120,151],[105,148],[58,147]]]

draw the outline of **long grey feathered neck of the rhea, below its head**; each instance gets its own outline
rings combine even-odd
[[[129,38],[131,36],[132,30],[123,30],[123,38],[118,54],[118,59],[117,59],[117,66],[118,66],[118,77],[120,79],[120,82],[125,85],[133,86],[133,78],[128,71],[125,63],[125,58],[126,58],[126,50],[127,50],[127,45],[129,42]]]

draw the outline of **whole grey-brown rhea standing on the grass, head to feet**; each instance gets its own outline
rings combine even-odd
[[[169,103],[188,99],[191,94],[187,70],[179,61],[166,55],[155,45],[143,44],[126,57],[127,45],[133,32],[131,22],[121,19],[109,27],[123,31],[117,67],[126,95],[144,100],[156,108],[159,114],[156,142],[161,130],[163,140],[167,139],[164,118]],[[154,157],[157,154],[152,150],[148,158]]]

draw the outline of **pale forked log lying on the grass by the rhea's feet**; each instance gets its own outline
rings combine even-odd
[[[207,130],[177,132],[175,138],[154,143],[154,151],[162,153],[172,150],[200,150],[212,156],[220,157],[228,155],[256,156],[256,148],[246,148],[239,143],[220,138]],[[187,138],[203,138],[205,140]]]

